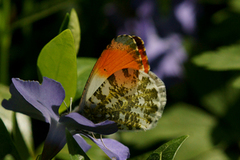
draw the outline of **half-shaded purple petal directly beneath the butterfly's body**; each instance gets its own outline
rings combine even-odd
[[[60,118],[59,122],[64,123],[69,130],[86,130],[98,134],[108,135],[118,131],[117,124],[113,121],[94,124],[79,113],[72,112]]]

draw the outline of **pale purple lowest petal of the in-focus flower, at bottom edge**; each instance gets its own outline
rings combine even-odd
[[[130,151],[128,147],[114,139],[103,138],[103,144],[101,139],[94,139],[92,137],[89,138],[96,143],[111,159],[115,158],[117,160],[126,160],[130,157]]]

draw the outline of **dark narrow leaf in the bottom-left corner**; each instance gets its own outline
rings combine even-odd
[[[15,159],[21,160],[12,139],[0,118],[0,159],[3,159],[6,155],[11,154]]]

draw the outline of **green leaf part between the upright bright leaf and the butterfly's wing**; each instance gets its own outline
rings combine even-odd
[[[77,59],[77,92],[75,99],[81,97],[84,90],[84,86],[88,80],[88,77],[96,63],[96,58],[78,58]]]

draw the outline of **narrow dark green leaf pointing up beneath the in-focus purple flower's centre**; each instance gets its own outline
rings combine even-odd
[[[67,138],[68,151],[69,151],[69,154],[71,155],[71,158],[75,159],[76,157],[83,156],[85,160],[90,160],[90,158],[78,145],[78,143],[75,141],[75,139],[67,129],[66,129],[66,138]]]

